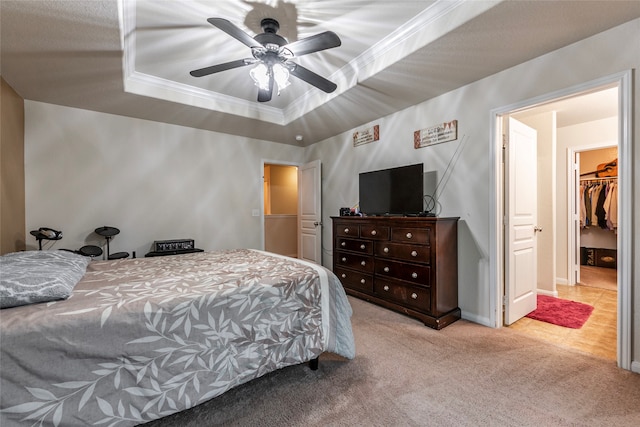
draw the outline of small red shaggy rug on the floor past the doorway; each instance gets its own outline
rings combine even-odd
[[[589,304],[538,295],[538,308],[526,317],[565,328],[580,329],[592,312],[593,307]]]

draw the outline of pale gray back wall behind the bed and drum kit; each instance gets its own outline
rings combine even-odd
[[[146,120],[25,102],[27,230],[63,231],[54,248],[104,243],[144,256],[154,240],[205,250],[260,248],[262,160],[303,150]],[[37,248],[35,239],[28,246]],[[50,244],[50,242],[45,242]]]

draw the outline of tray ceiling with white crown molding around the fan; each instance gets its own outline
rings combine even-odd
[[[250,57],[209,17],[337,33],[297,61],[338,89],[292,79],[258,103],[248,67],[190,76]],[[637,0],[2,0],[0,72],[29,100],[308,145],[638,17]]]

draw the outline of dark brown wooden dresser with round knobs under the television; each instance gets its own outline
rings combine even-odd
[[[333,271],[348,294],[435,329],[460,319],[458,218],[332,220]]]

